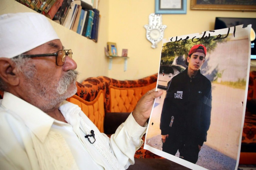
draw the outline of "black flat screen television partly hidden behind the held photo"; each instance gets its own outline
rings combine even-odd
[[[222,29],[233,27],[237,25],[242,25],[243,27],[247,27],[247,25],[251,24],[251,59],[256,59],[256,39],[255,39],[255,31],[256,31],[256,18],[227,18],[227,17],[216,17],[214,29]]]

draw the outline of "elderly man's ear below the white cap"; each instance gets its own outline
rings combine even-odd
[[[9,58],[0,58],[0,77],[6,83],[16,86],[19,84],[16,64]]]

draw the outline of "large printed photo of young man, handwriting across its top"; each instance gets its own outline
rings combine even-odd
[[[245,29],[246,33],[243,29]],[[240,104],[240,102],[247,101],[248,74],[250,69],[249,32],[250,26],[242,28],[242,25],[240,25],[236,26],[236,28],[217,29],[214,32],[207,31],[200,35],[199,33],[195,33],[168,37],[162,40],[162,51],[160,62],[158,62],[160,66],[158,65],[159,72],[157,80],[157,88],[162,90],[162,95],[161,97],[156,97],[154,100],[151,116],[148,122],[150,126],[147,126],[144,149],[190,169],[238,169],[241,139],[244,138],[244,136],[242,136],[242,128],[246,112],[246,105]],[[205,38],[205,35],[207,35],[207,39]],[[226,40],[224,40],[225,38],[219,39],[220,37],[225,37]],[[188,102],[188,100],[186,100],[185,94],[189,95],[188,93],[191,92],[190,90],[192,90],[192,88],[188,88],[188,93],[184,91],[186,86],[191,83],[191,79],[184,78],[184,82],[187,82],[188,84],[182,87],[184,83],[183,76],[187,74],[184,71],[189,69],[188,61],[190,61],[190,57],[187,56],[192,47],[199,43],[202,45],[205,44],[207,48],[207,53],[204,56],[204,63],[199,69],[200,74],[208,79],[211,84],[211,95],[208,96],[212,96],[212,98],[208,100],[211,103],[208,105],[211,107],[211,109],[208,110],[208,121],[206,119],[202,121],[202,117],[197,119],[195,114],[191,116],[190,113],[187,114],[187,116],[191,116],[190,118],[183,117],[186,113],[192,110],[192,107],[185,109],[185,105],[190,103],[190,101]],[[212,50],[210,50],[210,46],[213,47]],[[240,50],[240,48],[243,50]],[[198,49],[199,48],[197,48],[197,50]],[[181,53],[179,53],[179,50],[182,50]],[[173,51],[175,51],[175,53]],[[222,57],[219,57],[219,54],[221,54]],[[169,60],[167,58],[169,58]],[[233,61],[238,62],[238,65],[234,63],[231,64]],[[230,67],[230,65],[235,65],[236,67]],[[176,66],[180,67],[180,69],[177,69],[180,71],[176,70],[177,72],[175,72],[175,70],[172,69],[173,67],[177,68]],[[182,71],[181,66],[187,67],[187,69]],[[231,68],[230,71],[229,68]],[[243,73],[243,75],[240,77],[240,75],[235,73],[235,69],[239,73]],[[232,74],[229,74],[228,72]],[[227,82],[240,82],[241,79],[244,80],[243,87],[238,87],[236,85],[231,87],[225,84]],[[196,83],[198,83],[198,81]],[[218,90],[219,87],[225,88],[225,90],[221,90],[221,94]],[[226,90],[227,88],[231,91]],[[241,93],[237,95],[236,92]],[[194,96],[194,94],[197,93],[201,95],[203,92],[196,90],[195,93],[193,93],[194,101],[197,100]],[[234,102],[236,104],[231,104],[230,100],[224,100],[225,97],[230,98],[232,95],[236,96],[235,100],[237,101]],[[223,103],[223,101],[227,101],[227,103]],[[194,104],[195,103],[192,105]],[[173,107],[170,105],[173,105]],[[178,108],[180,110],[176,110]],[[162,112],[163,109],[164,111]],[[226,110],[225,116],[227,117],[222,116],[222,111],[218,111],[219,109]],[[196,110],[198,111],[198,108]],[[203,109],[201,109],[201,111],[202,110]],[[206,110],[203,112],[203,116],[205,116]],[[232,118],[234,118],[234,120],[231,120]],[[203,127],[205,127],[206,122],[208,123],[207,127],[209,128],[207,129],[207,132],[205,131],[203,138],[201,138],[204,140],[201,145],[197,143],[201,134],[193,135],[193,133],[197,133],[197,131],[200,131],[199,129],[203,127],[198,128],[198,130],[188,127],[190,125],[196,125],[191,123],[192,119],[195,121],[202,121]],[[227,123],[230,125],[227,125]],[[173,128],[173,130],[171,130],[171,128]],[[187,131],[184,131],[183,128]],[[230,128],[230,130],[227,128]],[[230,135],[231,131],[234,134]],[[194,151],[190,150],[190,148],[192,148],[192,145],[189,144],[191,141],[195,141],[194,146],[196,150]],[[182,142],[186,144],[181,144]],[[165,146],[164,143],[166,143]],[[201,147],[198,146],[198,144]],[[189,145],[189,147],[185,148],[186,145]],[[193,156],[190,156],[193,152],[198,155],[194,154]],[[195,157],[198,157],[198,159],[193,160]]]

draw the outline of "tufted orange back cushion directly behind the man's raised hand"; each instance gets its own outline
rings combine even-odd
[[[120,88],[109,86],[110,112],[131,112],[137,102],[149,90],[155,88],[157,82],[143,87]]]

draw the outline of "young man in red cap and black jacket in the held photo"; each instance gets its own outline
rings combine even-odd
[[[200,73],[206,47],[194,45],[185,60],[188,66],[167,86],[160,129],[162,151],[196,163],[206,141],[211,118],[211,82]]]

